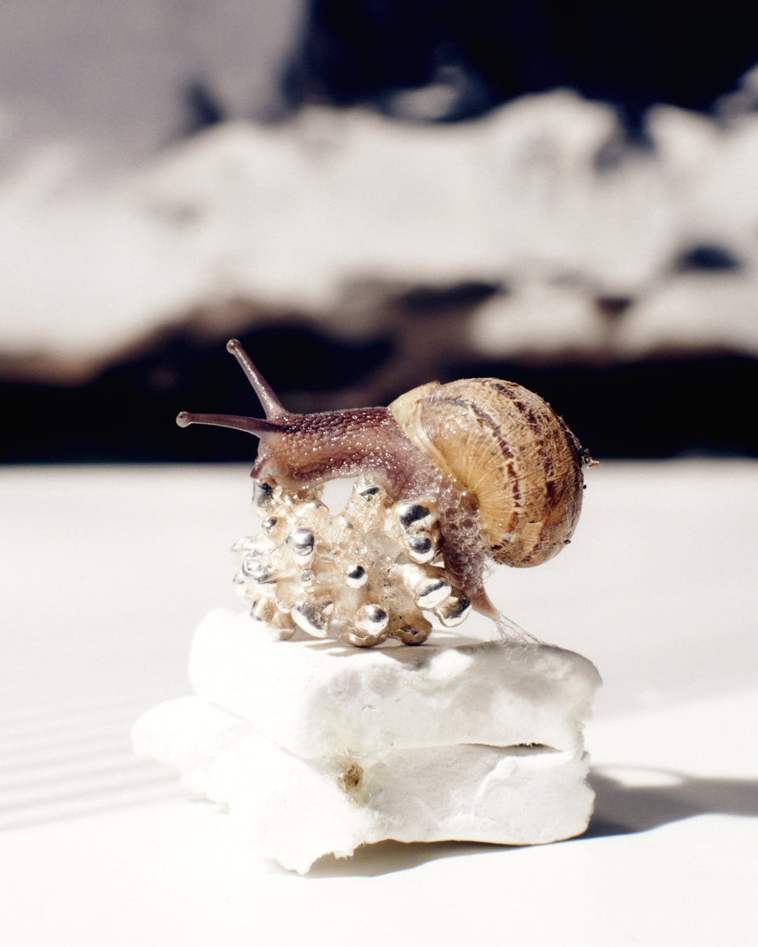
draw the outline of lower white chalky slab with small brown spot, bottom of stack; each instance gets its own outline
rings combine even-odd
[[[463,744],[304,760],[201,697],[145,714],[134,742],[225,803],[262,855],[300,872],[387,838],[552,842],[584,831],[594,800],[587,754]]]

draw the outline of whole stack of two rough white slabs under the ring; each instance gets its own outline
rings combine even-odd
[[[246,614],[211,612],[190,655],[196,695],[145,714],[135,749],[226,803],[264,856],[298,871],[387,838],[581,833],[597,670],[550,645],[460,640],[277,641]]]

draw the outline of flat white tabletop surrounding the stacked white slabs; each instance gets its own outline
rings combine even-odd
[[[750,942],[758,463],[606,462],[568,549],[489,582],[604,676],[585,836],[387,842],[305,877],[129,743],[143,710],[189,692],[198,620],[237,604],[226,550],[256,528],[247,473],[0,469],[3,944]]]

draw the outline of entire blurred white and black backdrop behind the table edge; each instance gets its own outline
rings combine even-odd
[[[0,0],[0,459],[247,460],[496,375],[593,456],[755,456],[758,9]]]

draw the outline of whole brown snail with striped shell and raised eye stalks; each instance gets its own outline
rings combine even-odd
[[[545,563],[568,544],[582,507],[582,467],[595,461],[538,395],[495,378],[431,382],[388,407],[288,412],[231,339],[265,419],[180,412],[180,427],[213,424],[260,438],[251,476],[285,490],[369,475],[393,501],[434,498],[442,562],[482,615],[501,623],[483,585],[492,559]]]

